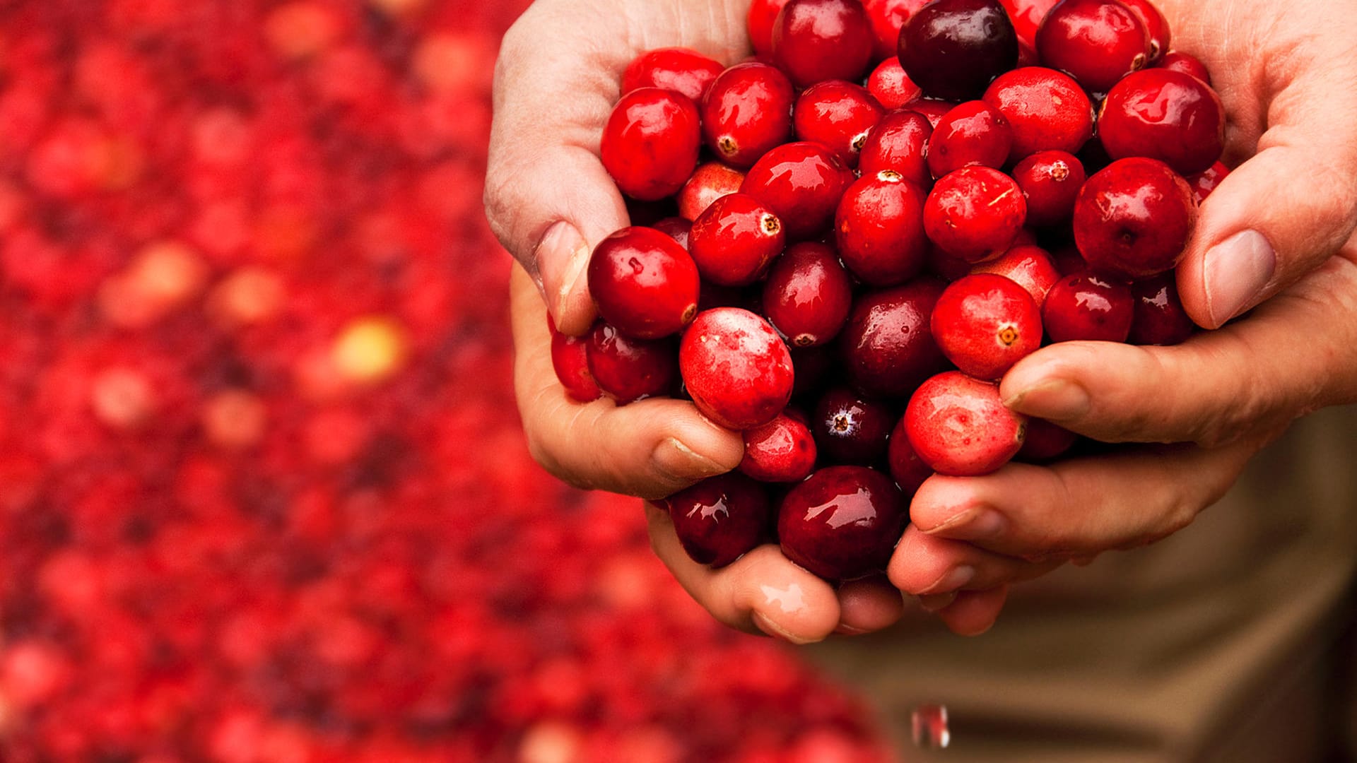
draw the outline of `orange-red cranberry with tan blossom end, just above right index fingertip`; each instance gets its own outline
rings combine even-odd
[[[1041,310],[1027,289],[1003,276],[974,273],[938,297],[934,341],[962,372],[999,380],[1041,348]]]

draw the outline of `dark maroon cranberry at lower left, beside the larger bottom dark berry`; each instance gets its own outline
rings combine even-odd
[[[744,474],[708,477],[665,498],[665,505],[678,543],[699,565],[726,566],[771,535],[768,494]]]

